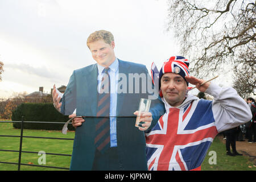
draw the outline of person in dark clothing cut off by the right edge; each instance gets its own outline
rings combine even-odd
[[[248,128],[248,142],[253,143],[256,142],[256,105],[254,98],[249,97],[246,100],[251,109],[251,115],[253,115],[250,121],[246,123]]]

